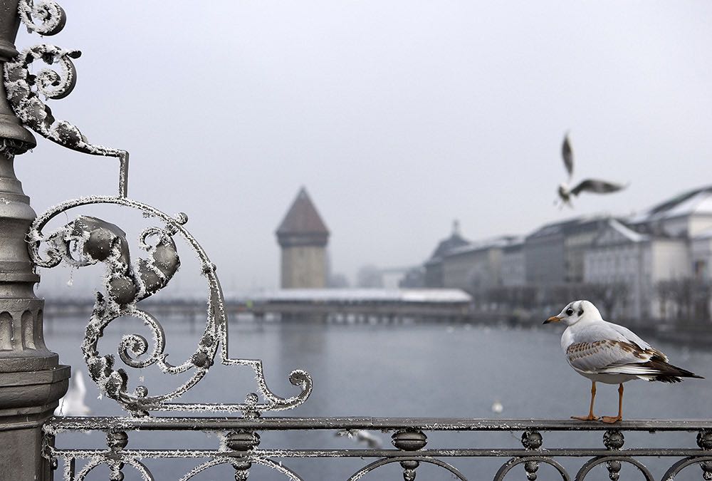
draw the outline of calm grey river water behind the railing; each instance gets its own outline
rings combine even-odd
[[[63,363],[86,373],[80,342],[83,324],[79,320],[48,319],[46,341],[60,354]],[[192,333],[185,319],[163,321],[167,331],[169,361],[179,363],[194,349],[199,332]],[[547,329],[548,328],[548,329]],[[278,395],[291,395],[295,388],[287,376],[303,368],[314,380],[310,399],[300,408],[284,413],[289,416],[393,416],[462,418],[540,418],[560,419],[587,412],[590,382],[567,366],[559,346],[560,326],[533,326],[532,329],[504,329],[463,324],[255,324],[240,321],[231,324],[231,356],[261,358],[268,385]],[[115,321],[102,341],[102,353],[115,353],[122,333],[138,332],[150,338],[139,321]],[[662,339],[647,339],[668,354],[672,363],[706,376],[676,385],[646,383],[626,384],[625,418],[712,418],[712,353],[704,348],[686,348]],[[117,363],[120,360],[117,358]],[[152,394],[178,386],[174,378],[157,376],[152,369],[131,375],[150,387]],[[110,399],[98,399],[98,391],[88,381],[87,404],[92,415],[117,415]],[[214,366],[186,400],[241,401],[254,390],[249,372],[241,368]],[[493,403],[501,403],[501,414]],[[615,386],[600,385],[596,413],[614,414],[617,410]],[[386,447],[389,434],[376,433]],[[429,447],[447,448],[468,445],[477,448],[519,448],[521,433],[451,433],[429,435]],[[545,447],[602,447],[600,433],[544,433]],[[93,446],[102,439],[93,435],[73,434],[58,439],[63,446]],[[159,433],[131,435],[132,448],[214,448],[216,438],[201,433],[177,435]],[[629,448],[651,446],[696,447],[694,434],[629,433]],[[264,433],[262,448],[357,448],[354,440],[334,433]],[[290,460],[286,465],[310,480],[345,479],[372,460]],[[469,477],[491,479],[501,460],[454,460]],[[671,460],[643,460],[660,477]],[[564,464],[572,475],[582,459],[568,459]],[[177,480],[196,460],[189,462],[150,463],[156,479]],[[399,480],[393,467],[377,470],[365,480]],[[516,472],[515,472],[516,471]],[[523,470],[515,470],[508,479],[525,479]],[[689,479],[701,479],[697,467],[689,469]],[[628,472],[630,479],[642,479]],[[601,477],[607,479],[605,470]],[[627,472],[624,469],[622,479]],[[127,469],[126,479],[137,479]],[[553,470],[542,467],[540,480],[556,479]],[[106,479],[107,472],[97,477]],[[196,480],[229,480],[229,470],[214,468]],[[251,480],[281,480],[266,468],[255,467]],[[418,480],[451,480],[450,475],[419,468]],[[678,479],[688,479],[679,477]]]

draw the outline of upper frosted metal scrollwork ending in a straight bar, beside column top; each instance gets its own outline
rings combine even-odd
[[[61,6],[53,1],[20,1],[20,18],[30,31],[53,35],[60,31],[66,15]],[[33,20],[41,23],[36,24]],[[56,120],[51,109],[41,100],[65,98],[71,93],[77,72],[72,62],[80,56],[79,51],[64,50],[56,46],[40,44],[23,50],[13,61],[4,64],[4,83],[9,103],[15,115],[24,125],[44,138],[63,147],[90,155],[103,155],[119,159],[119,195],[127,196],[129,154],[125,150],[104,147],[90,143],[79,128],[66,120]],[[43,68],[36,74],[30,73],[29,66],[34,61],[43,61],[60,68]]]

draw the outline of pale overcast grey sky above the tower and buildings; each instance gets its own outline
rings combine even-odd
[[[301,185],[353,278],[423,262],[452,219],[527,234],[712,183],[709,1],[61,4],[44,41],[83,55],[53,113],[131,152],[130,197],[187,212],[226,289],[278,285]],[[577,179],[630,187],[554,207],[566,130]],[[115,193],[115,160],[38,143],[16,160],[38,212]]]

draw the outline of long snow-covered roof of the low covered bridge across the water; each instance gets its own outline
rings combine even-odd
[[[418,302],[468,303],[471,296],[461,289],[278,289],[248,299],[254,302]]]

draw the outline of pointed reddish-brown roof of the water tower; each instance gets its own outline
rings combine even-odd
[[[302,187],[277,228],[277,239],[286,245],[325,245],[329,229],[314,207],[307,190]]]

